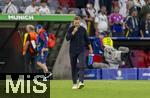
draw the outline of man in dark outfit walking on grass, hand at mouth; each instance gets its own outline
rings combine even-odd
[[[84,87],[84,65],[85,65],[85,46],[88,45],[90,53],[93,53],[90,41],[86,35],[84,27],[80,26],[80,17],[76,16],[67,32],[67,41],[70,41],[70,61],[72,70],[72,89],[81,89]],[[79,72],[77,71],[77,61],[79,61]],[[77,85],[79,73],[79,84]]]

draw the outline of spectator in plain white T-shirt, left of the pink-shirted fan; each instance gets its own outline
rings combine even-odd
[[[95,18],[95,28],[98,36],[108,31],[108,18],[106,13],[106,6],[102,6],[101,11]]]

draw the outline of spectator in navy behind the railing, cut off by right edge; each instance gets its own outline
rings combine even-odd
[[[140,28],[142,37],[150,37],[150,13],[147,14],[146,19],[141,21]]]

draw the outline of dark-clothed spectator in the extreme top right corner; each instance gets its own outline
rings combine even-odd
[[[146,18],[146,14],[150,13],[150,0],[146,0],[146,5],[142,7],[140,17],[141,19]]]

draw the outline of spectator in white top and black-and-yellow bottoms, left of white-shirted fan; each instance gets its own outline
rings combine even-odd
[[[87,23],[87,33],[89,36],[95,36],[95,10],[91,3],[87,4],[87,7],[83,10],[83,15],[85,16],[85,20]]]

